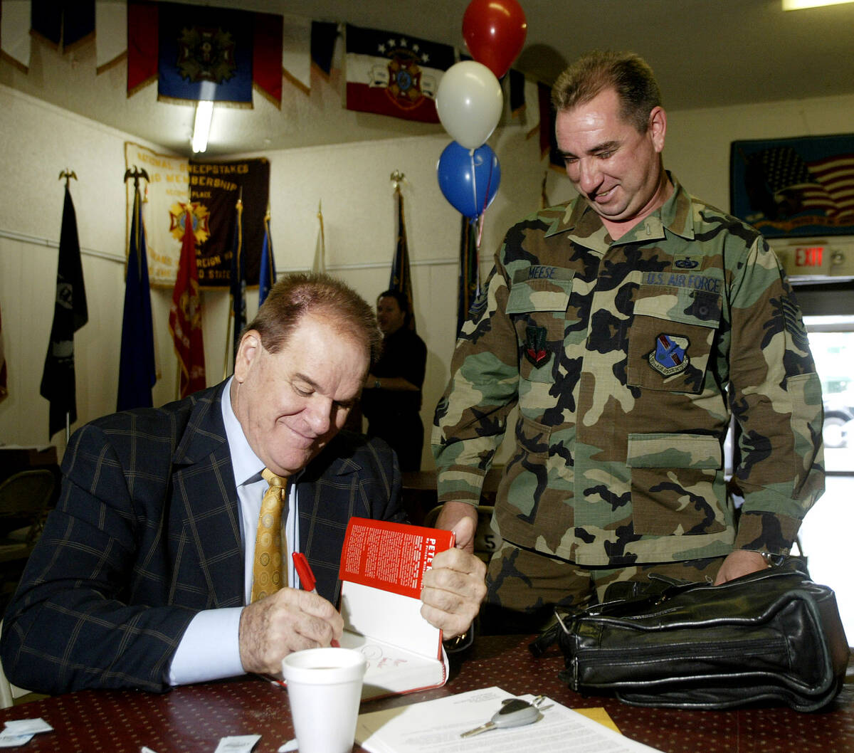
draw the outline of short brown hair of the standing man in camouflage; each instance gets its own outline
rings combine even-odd
[[[559,113],[607,89],[617,92],[623,120],[646,133],[652,108],[661,106],[661,90],[652,67],[634,52],[594,50],[582,55],[554,82],[552,104]]]

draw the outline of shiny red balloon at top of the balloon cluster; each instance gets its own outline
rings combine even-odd
[[[471,56],[500,79],[522,51],[528,22],[516,0],[471,0],[463,15],[463,38]]]

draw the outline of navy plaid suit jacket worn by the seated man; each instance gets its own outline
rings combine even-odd
[[[224,387],[74,433],[60,500],[3,617],[0,657],[15,685],[165,691],[196,612],[243,604]],[[342,432],[307,466],[301,548],[322,596],[337,600],[349,518],[401,520],[400,490],[389,446],[360,435]]]

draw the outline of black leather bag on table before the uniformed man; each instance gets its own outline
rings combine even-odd
[[[837,695],[848,663],[834,592],[797,559],[722,586],[659,581],[559,621],[570,687],[640,706],[813,711]]]

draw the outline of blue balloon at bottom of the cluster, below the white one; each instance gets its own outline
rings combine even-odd
[[[436,166],[439,188],[447,201],[465,217],[483,214],[501,182],[498,157],[487,144],[470,151],[452,141]]]

